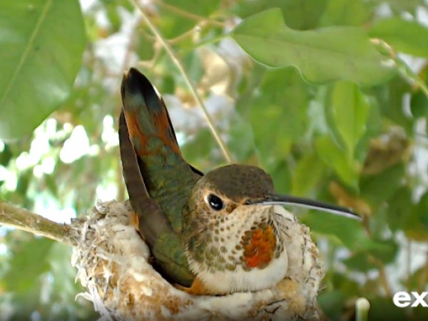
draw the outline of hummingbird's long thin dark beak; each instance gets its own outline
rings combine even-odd
[[[320,202],[319,200],[311,200],[310,198],[300,198],[300,197],[291,196],[291,195],[280,195],[275,193],[269,193],[267,198],[263,200],[249,200],[247,203],[260,204],[260,205],[295,205],[295,206],[300,206],[302,208],[322,210],[324,212],[329,212],[335,215],[341,215],[347,218],[361,220],[360,216],[354,213],[349,208],[344,208],[339,205]]]

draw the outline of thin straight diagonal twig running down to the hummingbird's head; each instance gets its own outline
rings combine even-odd
[[[175,55],[173,49],[171,49],[170,45],[168,44],[168,41],[163,38],[161,35],[161,32],[158,31],[156,26],[151,22],[150,19],[148,19],[148,16],[144,9],[138,4],[137,0],[131,0],[131,2],[136,6],[136,8],[140,11],[141,16],[143,16],[143,20],[148,25],[149,29],[153,32],[153,34],[156,36],[156,38],[161,42],[163,48],[165,48],[165,51],[168,53],[172,61],[175,63],[175,65],[180,70],[180,73],[183,75],[183,78],[185,79],[185,82],[188,84],[190,88],[190,92],[192,93],[193,97],[195,98],[196,102],[200,106],[200,109],[203,111],[203,115],[205,116],[205,120],[208,123],[208,126],[210,127],[211,133],[213,133],[213,136],[215,138],[215,141],[217,141],[218,145],[220,146],[221,151],[223,152],[223,155],[226,158],[226,161],[228,163],[232,162],[232,158],[230,157],[230,153],[228,151],[228,148],[225,146],[225,143],[223,142],[223,139],[220,137],[220,134],[217,131],[217,128],[215,128],[213,124],[213,120],[211,119],[207,108],[205,107],[205,104],[203,103],[202,98],[200,98],[198,92],[195,89],[195,86],[193,86],[193,83],[190,81],[190,78],[188,76],[188,73],[185,71],[183,64],[181,63],[180,59],[178,59],[178,56]]]

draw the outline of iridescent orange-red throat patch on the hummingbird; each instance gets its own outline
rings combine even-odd
[[[276,236],[272,226],[257,228],[245,233],[242,239],[247,267],[267,267],[274,256]]]

